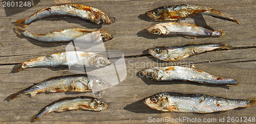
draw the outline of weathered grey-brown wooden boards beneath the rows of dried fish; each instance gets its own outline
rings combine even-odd
[[[56,93],[37,94],[33,98],[19,97],[11,102],[3,101],[10,94],[27,88],[33,83],[40,82],[53,76],[70,75],[67,69],[30,68],[22,72],[13,73],[22,61],[37,56],[65,51],[66,45],[40,43],[31,39],[17,37],[12,31],[11,22],[25,18],[41,8],[63,3],[77,3],[102,10],[109,16],[115,17],[110,25],[94,25],[77,19],[45,19],[30,24],[27,29],[35,34],[53,32],[68,27],[100,28],[107,30],[114,38],[105,42],[106,49],[121,50],[124,53],[127,77],[120,84],[103,91],[102,101],[110,102],[110,108],[101,112],[93,111],[66,111],[50,113],[35,123],[144,123],[148,117],[153,118],[217,118],[219,117],[255,117],[256,106],[235,109],[227,112],[211,114],[195,113],[168,113],[153,110],[140,100],[163,91],[183,93],[200,93],[230,99],[246,99],[256,96],[256,47],[255,47],[255,8],[256,2],[251,1],[41,1],[35,7],[6,17],[4,9],[0,7],[0,122],[29,123],[30,118],[41,108],[63,97],[92,96],[91,92],[83,94]],[[158,37],[145,32],[145,28],[159,22],[146,18],[143,14],[154,8],[166,5],[191,4],[207,6],[217,9],[228,16],[239,20],[240,25],[196,14],[186,18],[186,23],[195,23],[199,26],[225,29],[225,35],[219,38],[187,39],[184,37]],[[153,46],[175,46],[188,43],[227,43],[231,50],[215,50],[186,59],[159,63],[156,58],[148,55],[144,50]],[[143,68],[153,66],[181,65],[190,67],[195,64],[198,70],[209,72],[224,78],[236,78],[239,86],[210,86],[198,85],[189,82],[154,82],[136,76]],[[186,121],[184,121],[186,122]],[[225,118],[227,122],[227,118]]]

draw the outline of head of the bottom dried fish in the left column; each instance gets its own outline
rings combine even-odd
[[[90,107],[94,110],[94,111],[102,111],[105,110],[107,108],[109,108],[108,103],[105,103],[97,98],[93,99]]]

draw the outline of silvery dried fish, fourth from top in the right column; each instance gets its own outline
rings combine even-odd
[[[184,80],[193,81],[200,84],[213,85],[238,85],[236,79],[226,79],[210,75],[207,72],[196,69],[170,66],[170,67],[153,67],[141,71],[141,74],[154,81],[173,81]]]

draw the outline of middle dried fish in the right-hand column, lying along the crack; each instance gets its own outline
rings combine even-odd
[[[164,61],[181,60],[191,55],[196,55],[215,49],[229,49],[227,44],[187,44],[184,46],[155,47],[148,49],[148,52]]]

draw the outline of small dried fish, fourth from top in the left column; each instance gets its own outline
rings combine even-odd
[[[35,96],[38,92],[88,92],[92,90],[104,90],[110,86],[109,83],[100,78],[88,75],[68,75],[60,77],[52,77],[40,83],[34,84],[24,90],[18,91],[16,94],[8,97],[11,101],[17,97],[30,94]]]

